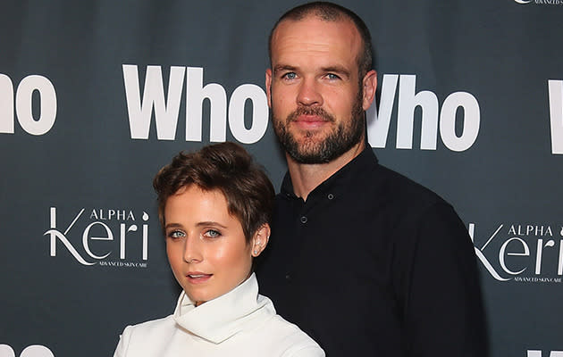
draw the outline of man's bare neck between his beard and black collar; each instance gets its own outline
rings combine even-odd
[[[288,161],[288,170],[290,171],[294,194],[307,201],[307,196],[315,187],[322,184],[324,180],[330,178],[336,171],[351,162],[364,150],[364,147],[366,147],[365,141],[361,140],[346,153],[341,154],[332,162],[326,163],[299,163],[286,153],[285,156]]]

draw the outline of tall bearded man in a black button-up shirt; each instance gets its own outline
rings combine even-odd
[[[289,173],[261,292],[327,356],[486,356],[463,222],[366,145],[371,53],[365,23],[336,4],[298,6],[272,30],[265,86]]]

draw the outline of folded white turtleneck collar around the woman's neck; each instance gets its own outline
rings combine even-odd
[[[197,307],[182,291],[173,317],[178,325],[192,334],[219,344],[243,331],[250,321],[273,315],[273,303],[258,295],[258,282],[253,273],[229,293]]]

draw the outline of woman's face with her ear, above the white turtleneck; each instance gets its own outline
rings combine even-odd
[[[219,190],[182,187],[166,201],[164,221],[174,277],[196,305],[228,293],[248,278],[253,254],[265,246],[256,243],[263,229],[247,244]]]

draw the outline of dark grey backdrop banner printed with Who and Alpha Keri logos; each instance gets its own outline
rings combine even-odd
[[[279,187],[267,36],[296,4],[2,4],[1,357],[112,355],[172,312],[152,179],[173,154],[235,141]],[[492,355],[563,356],[563,1],[341,4],[374,37],[369,143],[465,221]]]

